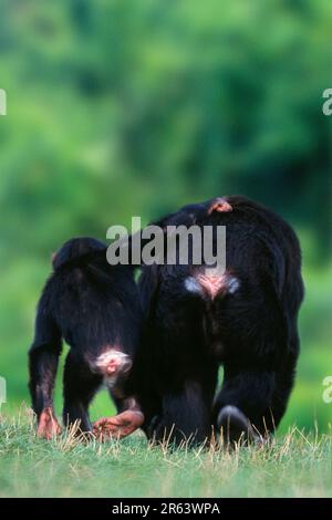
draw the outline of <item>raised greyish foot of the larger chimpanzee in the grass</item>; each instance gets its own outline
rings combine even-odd
[[[236,406],[224,406],[219,412],[217,425],[227,444],[260,439],[248,417]]]

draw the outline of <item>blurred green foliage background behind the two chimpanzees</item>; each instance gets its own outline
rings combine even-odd
[[[303,248],[302,354],[282,428],[328,430],[331,27],[330,0],[0,0],[2,410],[29,402],[54,249],[243,194],[287,218]],[[93,415],[110,410],[104,394]]]

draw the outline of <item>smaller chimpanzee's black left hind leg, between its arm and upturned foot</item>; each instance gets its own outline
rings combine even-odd
[[[102,384],[102,376],[91,372],[83,361],[73,358],[70,352],[63,373],[63,423],[69,426],[80,422],[82,431],[91,431],[89,405]]]

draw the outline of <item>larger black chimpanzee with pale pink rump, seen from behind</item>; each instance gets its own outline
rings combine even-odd
[[[226,270],[145,266],[136,395],[149,437],[261,439],[282,418],[299,353],[301,252],[288,223],[241,196],[190,205],[159,222],[226,226]],[[191,259],[193,260],[193,259]],[[219,366],[224,382],[215,396]],[[136,376],[135,376],[136,374]]]

